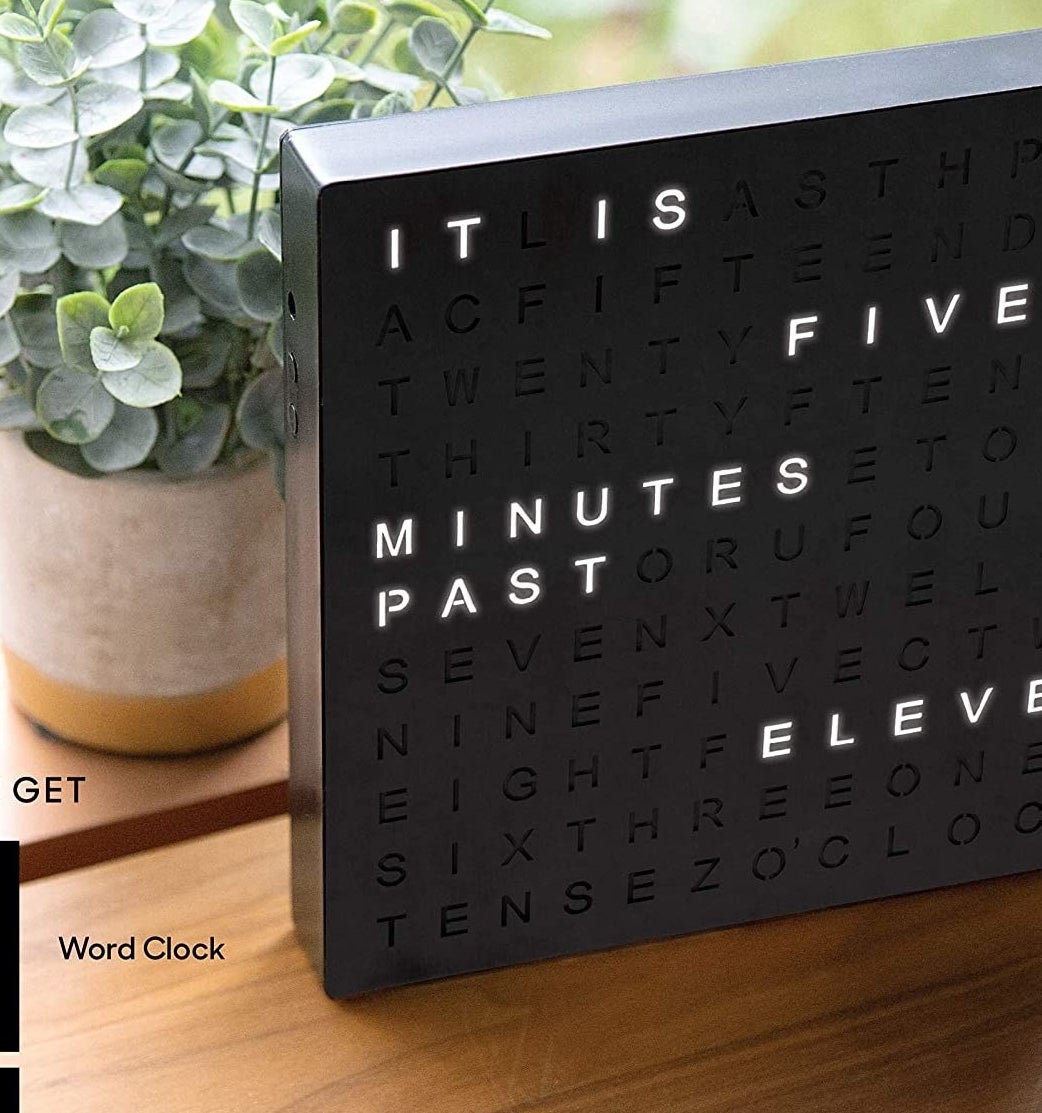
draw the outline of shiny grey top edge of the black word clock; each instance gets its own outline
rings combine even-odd
[[[1042,30],[291,129],[317,189],[1042,85]],[[358,126],[362,125],[362,126]],[[342,135],[346,129],[350,141]],[[334,135],[331,135],[331,131]]]

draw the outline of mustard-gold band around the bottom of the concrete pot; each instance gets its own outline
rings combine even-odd
[[[110,696],[46,677],[4,647],[11,699],[52,733],[117,754],[190,754],[285,717],[286,662],[194,696]]]

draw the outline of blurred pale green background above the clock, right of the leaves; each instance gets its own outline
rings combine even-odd
[[[547,48],[518,50],[510,36],[484,36],[472,52],[471,66],[491,69],[514,96],[1042,24],[1042,0],[511,0],[507,7],[556,38]]]

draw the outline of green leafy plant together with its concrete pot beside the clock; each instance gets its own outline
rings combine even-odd
[[[36,722],[186,752],[283,716],[279,137],[482,99],[483,33],[547,37],[474,0],[0,13],[0,632]]]

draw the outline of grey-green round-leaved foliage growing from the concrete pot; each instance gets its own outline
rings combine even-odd
[[[17,0],[0,13],[0,427],[80,474],[284,444],[278,141],[469,104],[476,0]]]

